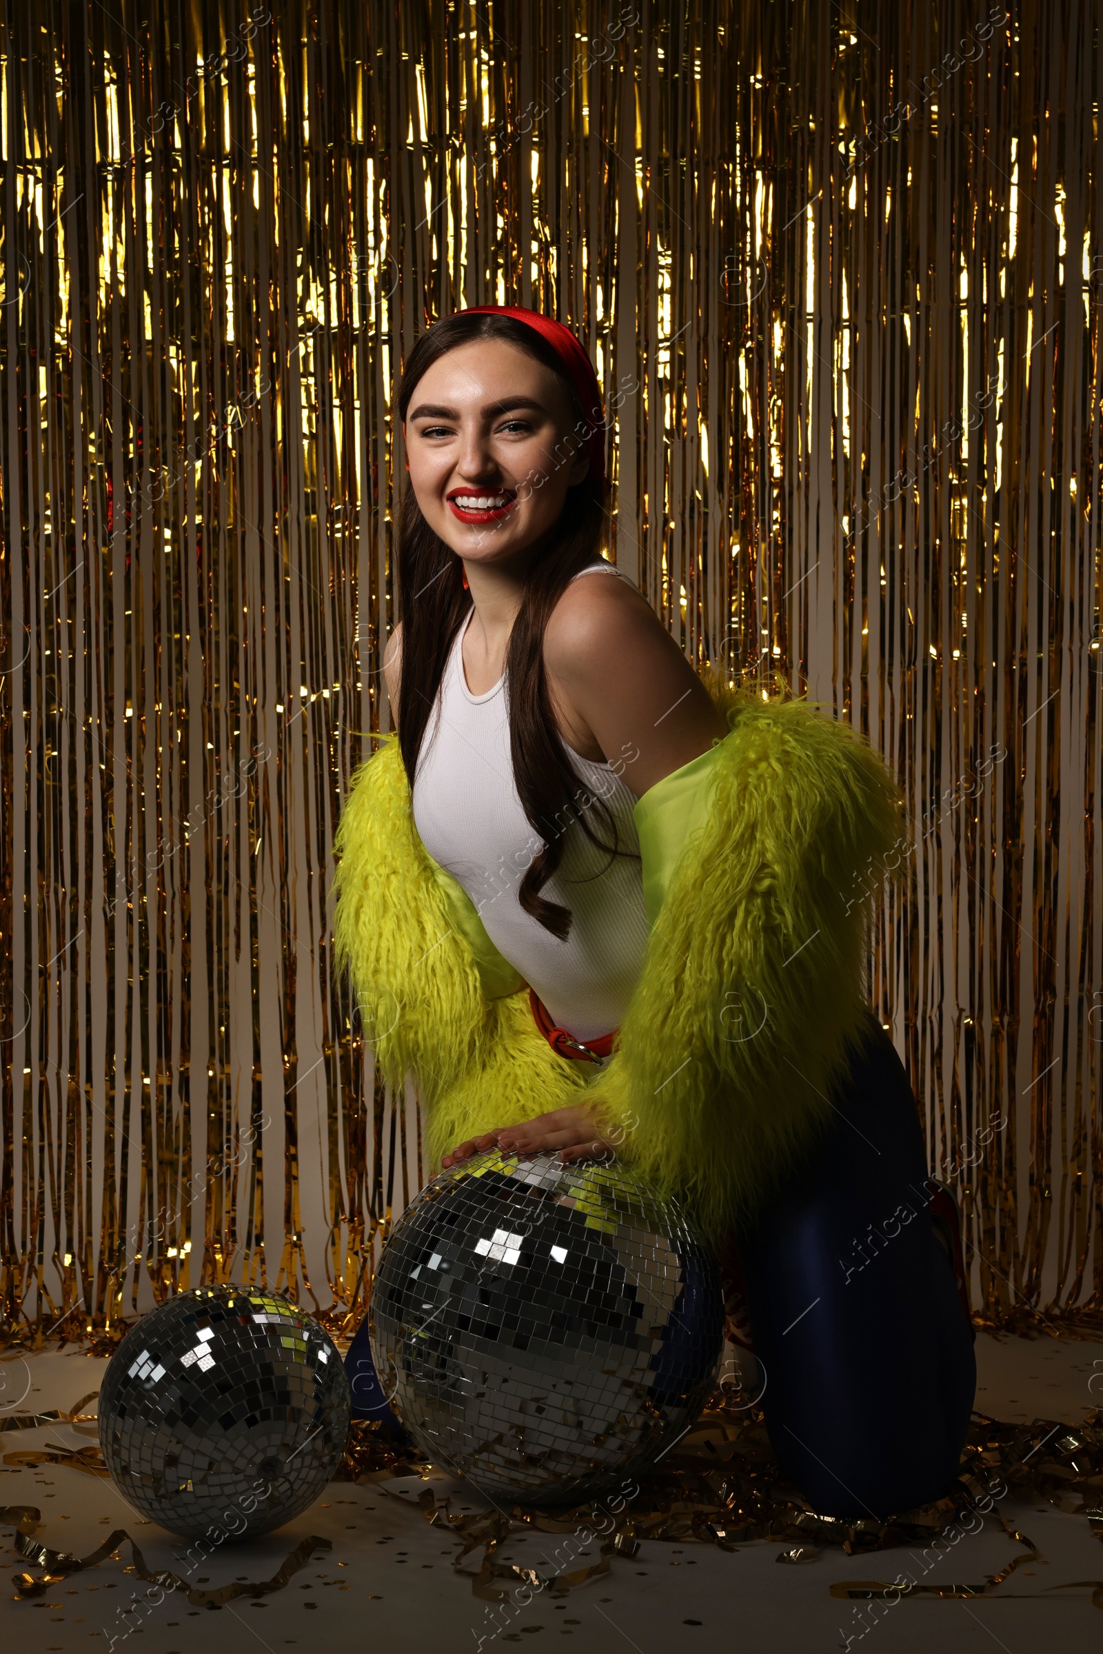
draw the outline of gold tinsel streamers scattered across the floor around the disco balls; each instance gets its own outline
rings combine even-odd
[[[61,1417],[84,1417],[81,1408],[91,1399],[84,1396]],[[35,1429],[41,1422],[41,1414],[20,1414],[13,1427]],[[103,1456],[93,1446],[23,1449],[3,1454],[3,1462],[13,1469],[50,1464],[107,1475]],[[417,1484],[432,1469],[415,1449],[390,1442],[377,1421],[354,1419],[336,1480],[377,1484],[380,1492],[408,1503],[402,1482],[412,1479]],[[547,1589],[551,1596],[564,1596],[572,1586],[607,1575],[617,1556],[635,1556],[645,1540],[714,1545],[726,1551],[754,1540],[787,1540],[790,1543],[777,1553],[776,1561],[790,1565],[814,1561],[824,1546],[842,1548],[850,1556],[906,1548],[906,1563],[891,1581],[845,1580],[830,1588],[832,1596],[848,1601],[895,1606],[905,1596],[951,1599],[1017,1594],[1000,1588],[1022,1563],[1039,1561],[1040,1551],[1012,1525],[1004,1500],[1019,1507],[1045,1500],[1070,1515],[1083,1515],[1096,1538],[1103,1540],[1101,1470],[1103,1417],[1098,1409],[1091,1409],[1080,1426],[1052,1419],[1005,1424],[974,1413],[957,1475],[943,1499],[900,1512],[886,1522],[873,1517],[824,1517],[785,1482],[762,1414],[721,1386],[696,1426],[663,1456],[661,1465],[655,1464],[642,1472],[640,1480],[627,1479],[602,1499],[556,1510],[519,1503],[509,1508],[496,1505],[491,1510],[466,1512],[465,1507],[465,1512],[453,1512],[450,1497],[438,1499],[433,1487],[425,1485],[417,1495],[417,1505],[427,1522],[455,1540],[453,1570],[471,1581],[473,1594],[493,1604],[508,1604],[511,1613],[516,1613],[519,1589],[528,1588],[529,1594]],[[976,1583],[926,1583],[926,1575],[956,1555],[959,1540],[976,1533],[987,1518],[1027,1550],[1017,1551],[997,1573]],[[40,1575],[15,1576],[15,1586],[25,1598],[43,1596],[69,1573],[98,1566],[127,1540],[132,1566],[141,1580],[169,1591],[187,1591],[189,1601],[197,1608],[218,1604],[238,1594],[263,1596],[283,1589],[313,1550],[329,1548],[331,1543],[324,1538],[303,1540],[268,1581],[238,1580],[235,1585],[200,1591],[179,1575],[149,1571],[124,1528],[116,1528],[88,1556],[74,1556],[35,1540],[35,1528],[41,1523],[38,1507],[0,1507],[2,1523],[13,1523],[17,1528],[17,1555],[43,1570]],[[572,1535],[574,1543],[562,1551],[556,1550],[554,1558],[544,1553],[544,1566],[534,1570],[509,1556],[511,1538],[526,1530]],[[476,1555],[480,1550],[481,1556]],[[597,1560],[574,1566],[595,1551]],[[1048,1589],[1083,1588],[1091,1589],[1093,1604],[1103,1608],[1101,1580],[1068,1580]],[[1039,1599],[1037,1593],[1034,1599]],[[876,1621],[873,1609],[855,1608],[853,1614],[852,1639],[865,1634],[870,1623]],[[508,1621],[491,1621],[485,1629],[496,1634],[506,1626]]]

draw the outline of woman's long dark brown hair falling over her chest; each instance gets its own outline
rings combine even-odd
[[[554,349],[534,327],[513,316],[465,316],[458,313],[435,323],[420,336],[399,384],[399,417],[405,422],[410,397],[433,362],[458,344],[473,339],[504,339],[536,357],[559,379],[569,399],[575,430],[585,422],[574,385],[562,370]],[[566,460],[571,455],[564,455]],[[544,673],[544,627],[571,576],[599,556],[605,541],[605,488],[602,478],[587,476],[567,490],[562,513],[528,571],[521,609],[506,647],[506,685],[509,705],[509,748],[513,776],[532,832],[542,849],[524,872],[518,900],[526,913],[561,941],[571,930],[571,908],[541,896],[542,887],[559,868],[564,855],[564,832],[572,820],[610,860],[638,852],[617,847],[617,824],[607,804],[589,797],[579,804],[579,774],[567,758],[552,716]],[[463,562],[428,526],[413,490],[407,485],[399,513],[399,620],[402,622],[402,670],[399,681],[399,748],[410,792],[417,774],[418,753],[428,718],[440,690],[448,653],[460,625],[471,607],[471,594],[463,587]],[[594,807],[612,829],[612,844],[599,839],[587,822]],[[597,873],[592,877],[599,877]]]

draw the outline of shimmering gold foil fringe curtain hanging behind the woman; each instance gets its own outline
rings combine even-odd
[[[339,1313],[422,1178],[331,844],[387,724],[392,384],[471,303],[594,352],[615,557],[686,652],[900,774],[903,882],[843,895],[974,1292],[1098,1303],[1100,83],[1075,0],[8,8],[10,1333],[225,1277]]]

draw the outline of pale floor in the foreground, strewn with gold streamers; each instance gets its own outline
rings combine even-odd
[[[996,1417],[1062,1419],[1075,1424],[1103,1406],[1103,1345],[1073,1340],[1007,1340],[977,1336],[981,1373],[977,1409]],[[21,1411],[68,1408],[99,1384],[103,1361],[78,1351],[0,1358],[0,1419]],[[1093,1383],[1095,1379],[1095,1383]],[[0,1460],[50,1441],[79,1444],[68,1426],[2,1432]],[[86,1441],[86,1437],[84,1437]],[[415,1484],[418,1485],[418,1484]],[[804,1654],[833,1651],[873,1637],[883,1654],[1009,1654],[1100,1649],[1103,1613],[1091,1591],[1073,1581],[1103,1581],[1103,1546],[1083,1515],[1052,1507],[1000,1510],[1030,1538],[1042,1560],[1020,1568],[994,1598],[953,1601],[914,1598],[868,1604],[832,1598],[845,1580],[886,1580],[910,1565],[908,1551],[848,1558],[825,1548],[819,1558],[779,1568],[782,1546],[759,1542],[726,1555],[713,1546],[647,1543],[633,1558],[614,1558],[612,1573],[580,1586],[566,1599],[534,1596],[526,1608],[494,1608],[473,1594],[451,1568],[455,1545],[430,1527],[408,1497],[410,1482],[390,1487],[332,1484],[326,1497],[276,1535],[225,1545],[193,1575],[217,1586],[235,1578],[268,1578],[306,1535],[332,1540],[286,1589],[260,1603],[238,1599],[222,1609],[189,1608],[169,1594],[147,1606],[129,1631],[119,1609],[147,1588],[129,1568],[129,1546],[88,1573],[55,1586],[45,1598],[21,1601],[15,1586],[0,1593],[3,1654],[71,1654],[74,1649],[121,1649],[127,1654],[241,1654],[268,1649],[326,1654],[346,1651],[493,1649],[496,1642],[544,1642],[574,1637],[579,1654]],[[405,1497],[403,1497],[405,1495]],[[58,1550],[86,1555],[114,1527],[126,1527],[147,1566],[180,1568],[184,1546],[124,1505],[111,1482],[69,1469],[0,1465],[0,1503],[36,1505],[43,1527],[35,1535]],[[471,1500],[475,1505],[476,1500]],[[0,1565],[7,1578],[26,1568],[15,1555],[13,1525],[0,1525]],[[511,1555],[541,1565],[541,1535],[521,1535]],[[551,1542],[554,1545],[554,1542]],[[924,1575],[924,1583],[982,1585],[1020,1546],[994,1515],[962,1533],[953,1553]],[[481,1553],[471,1553],[475,1563]],[[585,1558],[584,1558],[585,1560]],[[597,1560],[597,1551],[590,1560]],[[923,1565],[913,1558],[911,1570]],[[399,1573],[402,1570],[402,1573]],[[693,1570],[693,1571],[690,1571]],[[432,1575],[432,1578],[430,1578]]]

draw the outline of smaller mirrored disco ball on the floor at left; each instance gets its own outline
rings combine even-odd
[[[284,1297],[200,1287],[157,1305],[99,1391],[111,1479],[172,1533],[278,1528],[341,1462],[349,1381],[332,1340]]]

